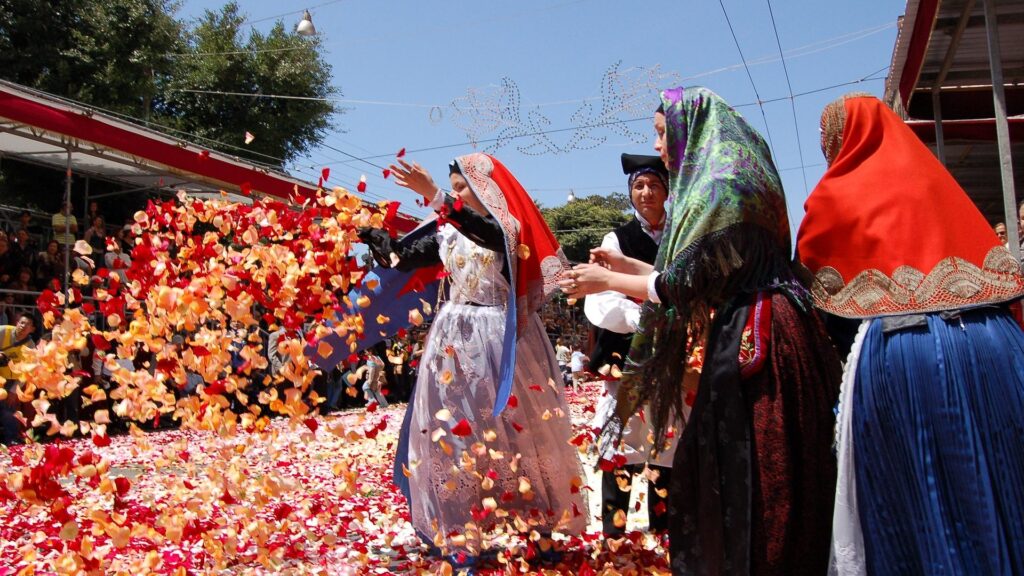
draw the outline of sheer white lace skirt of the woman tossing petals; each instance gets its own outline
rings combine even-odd
[[[446,303],[430,327],[411,407],[413,525],[476,554],[505,531],[579,534],[586,477],[555,354],[532,315],[517,344],[508,408],[492,417],[505,308]],[[460,422],[465,419],[468,428]]]

